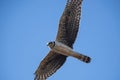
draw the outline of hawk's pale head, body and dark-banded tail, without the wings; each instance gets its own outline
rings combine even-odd
[[[64,45],[61,42],[58,42],[58,41],[49,42],[48,46],[51,48],[52,51],[56,53],[59,53],[65,56],[72,56],[86,63],[90,62],[90,57],[87,57],[81,53],[73,51],[72,48]]]

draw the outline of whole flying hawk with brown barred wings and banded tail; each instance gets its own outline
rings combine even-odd
[[[34,80],[46,80],[64,64],[68,56],[85,63],[90,62],[90,57],[73,51],[73,44],[79,29],[81,5],[82,0],[67,0],[59,22],[56,40],[48,43],[51,50],[35,71]]]

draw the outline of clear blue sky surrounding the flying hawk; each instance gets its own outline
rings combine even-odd
[[[0,0],[0,80],[33,80],[55,40],[66,0]],[[120,80],[120,0],[84,0],[74,50],[48,80]]]

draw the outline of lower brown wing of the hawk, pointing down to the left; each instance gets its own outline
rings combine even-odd
[[[46,80],[55,73],[65,61],[66,56],[50,51],[36,70],[34,80]]]

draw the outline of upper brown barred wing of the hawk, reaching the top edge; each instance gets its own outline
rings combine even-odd
[[[82,0],[67,0],[61,16],[56,40],[73,47],[79,29]]]

